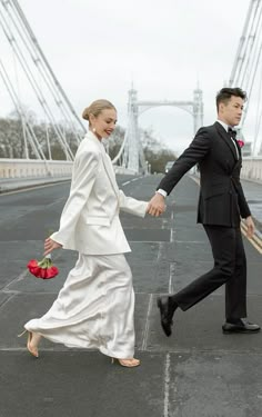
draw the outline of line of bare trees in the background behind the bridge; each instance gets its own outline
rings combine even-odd
[[[26,115],[31,129],[37,138],[36,147],[41,149],[47,159],[64,160],[66,152],[58,139],[57,131],[62,132],[72,153],[74,155],[78,148],[78,131],[67,125],[60,122],[56,126],[38,122],[36,115],[23,107],[23,115]],[[124,140],[125,130],[121,126],[117,126],[109,140],[109,155],[113,159]],[[79,132],[82,136],[82,132]],[[0,158],[26,158],[27,153],[30,159],[36,159],[30,140],[28,140],[28,132],[18,111],[13,111],[7,119],[0,119]],[[169,160],[175,160],[175,153],[170,150],[164,143],[154,138],[152,130],[140,130],[140,140],[144,152],[144,159],[151,166],[151,172],[164,172],[165,163]],[[48,145],[49,143],[49,145]],[[51,153],[51,156],[50,156]]]

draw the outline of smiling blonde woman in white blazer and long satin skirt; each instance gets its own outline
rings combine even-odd
[[[119,190],[102,138],[114,130],[117,110],[97,100],[83,111],[89,131],[75,155],[70,195],[60,228],[44,242],[53,249],[79,251],[74,268],[50,310],[24,325],[28,350],[38,357],[41,337],[68,347],[98,348],[120,365],[134,367],[134,292],[124,252],[130,251],[120,209],[144,217],[148,202]]]

